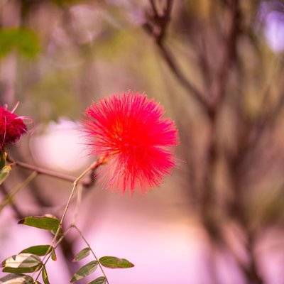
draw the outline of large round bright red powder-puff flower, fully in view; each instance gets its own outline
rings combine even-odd
[[[102,168],[108,187],[146,190],[170,174],[177,129],[163,114],[153,99],[133,92],[114,94],[86,109],[84,131],[92,153],[107,157]]]

